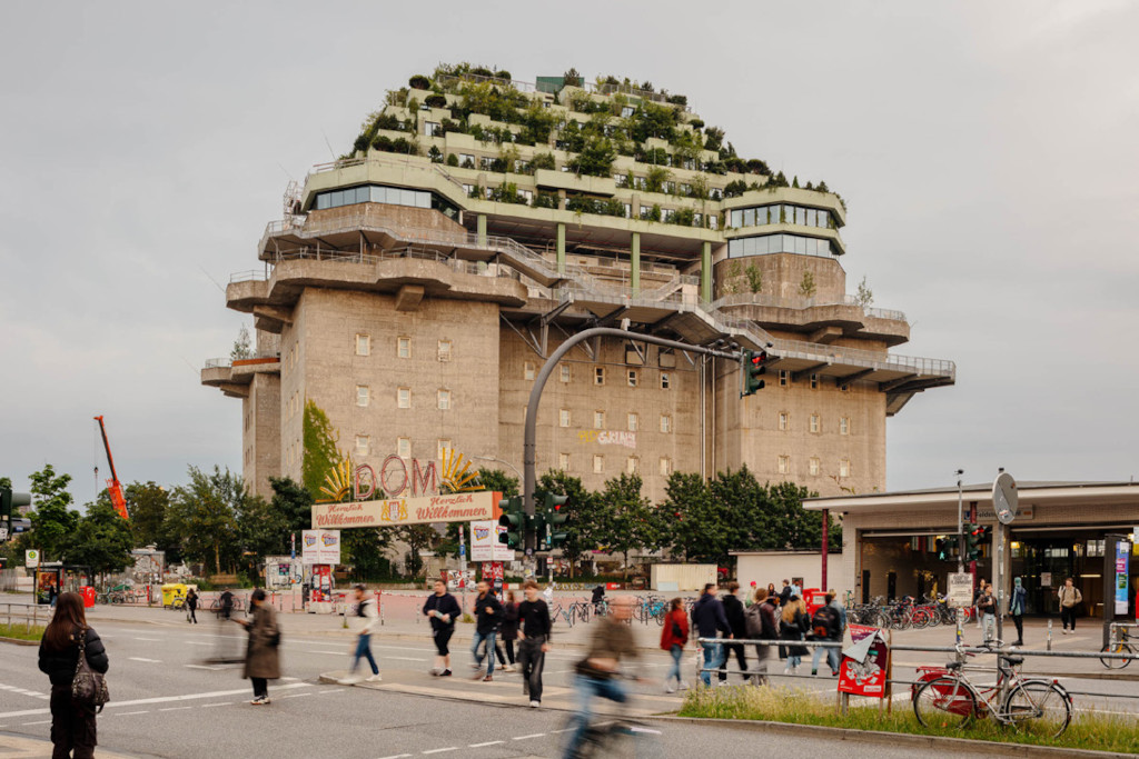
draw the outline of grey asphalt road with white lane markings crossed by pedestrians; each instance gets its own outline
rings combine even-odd
[[[272,704],[247,703],[251,688],[233,667],[203,663],[220,644],[239,646],[231,628],[203,624],[151,626],[104,620],[98,630],[110,657],[108,680],[114,701],[99,717],[100,745],[134,756],[159,757],[556,757],[568,711],[528,709],[495,702],[516,696],[517,675],[491,684],[439,680],[426,675],[433,649],[427,641],[375,640],[385,682],[421,682],[423,695],[363,687],[321,685],[321,673],[347,662],[344,640],[290,636],[282,646],[288,676],[270,685]],[[36,669],[36,650],[0,645],[0,733],[47,739],[47,678]],[[580,651],[554,651],[548,665],[550,691],[565,688]],[[469,657],[456,651],[457,675],[469,673]],[[648,657],[645,670],[659,678],[663,655]],[[833,688],[819,682],[819,687]],[[446,688],[485,688],[484,701],[452,700]],[[658,686],[639,686],[639,702],[652,711],[674,709],[679,698]],[[434,690],[432,690],[434,688]],[[646,749],[654,758],[683,757],[712,749],[716,757],[872,756],[910,757],[911,748],[762,734],[722,726],[655,725],[661,735]]]

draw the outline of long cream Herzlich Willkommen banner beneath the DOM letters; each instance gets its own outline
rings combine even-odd
[[[312,504],[312,523],[320,528],[395,527],[493,518],[494,494],[490,490],[429,495],[421,498]]]

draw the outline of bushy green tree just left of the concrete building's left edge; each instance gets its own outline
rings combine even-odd
[[[245,482],[227,468],[213,473],[189,468],[190,482],[174,488],[167,523],[182,554],[190,561],[212,562],[221,574],[236,564],[239,543],[233,539],[237,517],[244,511]]]

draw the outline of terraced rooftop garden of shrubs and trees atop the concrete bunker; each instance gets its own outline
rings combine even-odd
[[[540,80],[543,88],[554,89],[540,91],[515,82],[510,72],[497,67],[441,64],[431,75],[417,74],[408,80],[407,86],[388,90],[384,107],[369,114],[361,124],[352,151],[372,149],[427,155],[436,163],[461,166],[457,156],[444,156],[435,146],[424,152],[416,137],[416,119],[420,108],[427,107],[449,113],[449,117],[441,118],[434,127],[435,137],[458,132],[472,135],[483,146],[498,146],[499,158],[481,164],[478,168],[483,171],[532,174],[538,168],[557,168],[550,152],[538,154],[530,162],[522,160],[515,147],[521,145],[564,150],[571,156],[566,167],[579,175],[614,178],[618,187],[663,191],[675,197],[719,200],[738,197],[748,190],[786,187],[831,192],[837,197],[826,182],[809,181],[801,185],[797,176],[788,182],[781,171],[773,173],[762,159],[739,156],[732,143],[724,141],[721,127],[707,126],[687,110],[686,96],[657,91],[650,82],[613,75],[599,76],[591,88],[587,88],[575,68],[560,77],[542,79],[546,80]],[[566,93],[566,88],[573,89]],[[551,102],[543,92],[556,92],[555,102],[564,105],[572,114],[550,108]],[[604,97],[597,98],[597,94]],[[494,124],[472,119],[475,114]],[[404,132],[407,137],[384,132]],[[667,148],[661,147],[661,142]],[[652,166],[648,176],[616,173],[614,164],[618,156]],[[697,179],[686,173],[678,180],[673,168],[697,172]],[[713,179],[729,172],[754,179],[737,178],[727,184]],[[838,200],[843,203],[841,197]],[[581,201],[579,205],[588,204]],[[603,201],[603,205],[605,211],[587,212],[618,215],[612,204]]]

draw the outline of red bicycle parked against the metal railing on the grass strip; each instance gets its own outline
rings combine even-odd
[[[1018,732],[1057,737],[1072,721],[1072,696],[1055,679],[1025,678],[1018,667],[1024,657],[997,653],[997,683],[978,685],[965,671],[965,658],[976,655],[957,646],[957,661],[944,667],[919,667],[919,683],[912,686],[913,715],[925,727],[964,728],[974,718],[991,715]]]

